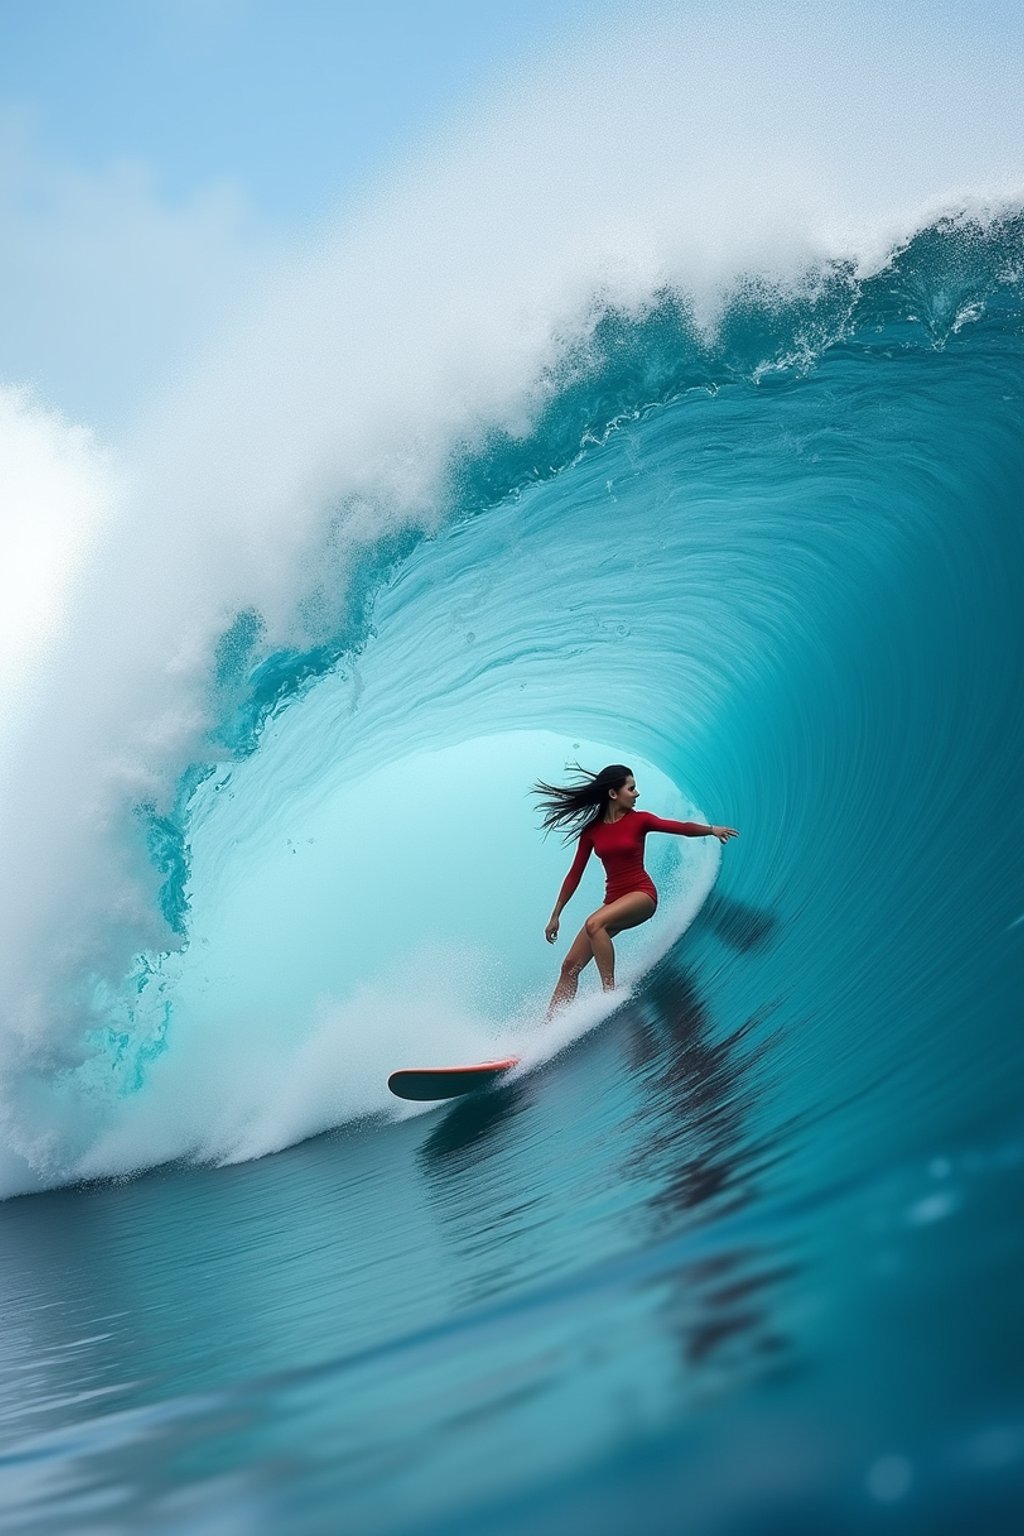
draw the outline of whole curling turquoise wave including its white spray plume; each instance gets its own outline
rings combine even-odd
[[[688,65],[711,81],[688,114],[725,58],[715,28]],[[729,83],[745,123],[752,78]],[[614,131],[639,98],[616,100]],[[154,413],[134,490],[15,700],[9,1192],[256,1155],[381,1112],[402,1051],[528,1029],[550,954],[519,914],[543,914],[562,869],[527,822],[494,829],[500,803],[477,786],[496,762],[510,803],[577,742],[606,750],[648,776],[652,808],[677,797],[751,828],[751,902],[786,871],[811,905],[826,880],[851,897],[867,879],[843,808],[866,833],[867,791],[917,796],[936,733],[949,814],[950,785],[1004,783],[1021,198],[929,203],[923,140],[904,212],[874,186],[857,238],[849,218],[826,238],[786,157],[758,190],[777,144],[726,143],[722,190],[714,157],[697,174],[652,140],[649,206],[613,200],[594,224],[596,172],[571,206],[537,203],[536,166],[516,183],[527,149],[510,170],[496,121],[441,172],[416,167]],[[531,121],[542,132],[543,112]],[[577,149],[570,132],[557,154]],[[467,166],[491,200],[471,220]],[[620,192],[634,169],[602,174]],[[992,739],[950,723],[960,673],[935,693],[953,633],[978,668],[1003,657],[961,700]],[[851,657],[872,644],[869,700]],[[867,743],[894,733],[886,782]],[[447,806],[441,846],[430,817]],[[663,854],[676,915],[637,949],[636,985],[715,879],[683,852]],[[895,911],[875,877],[872,911]],[[820,925],[838,963],[851,934]]]

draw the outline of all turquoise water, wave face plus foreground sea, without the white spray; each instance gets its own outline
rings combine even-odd
[[[15,1100],[2,1528],[1019,1528],[1022,406],[1016,217],[666,293],[315,644],[226,627],[132,823],[187,942]],[[525,791],[602,751],[742,836],[545,1035]]]

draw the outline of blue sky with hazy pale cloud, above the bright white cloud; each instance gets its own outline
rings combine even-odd
[[[0,384],[117,430],[247,286],[599,0],[5,0]]]

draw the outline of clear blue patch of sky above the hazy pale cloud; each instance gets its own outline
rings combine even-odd
[[[243,183],[315,214],[596,0],[29,0],[0,12],[0,101],[46,154],[143,158],[169,198]]]

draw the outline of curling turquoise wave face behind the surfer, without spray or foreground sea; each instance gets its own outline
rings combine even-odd
[[[1012,210],[869,278],[749,283],[712,335],[676,292],[606,309],[528,432],[451,461],[438,531],[367,539],[341,617],[307,585],[318,644],[226,622],[204,757],[170,793],[124,771],[121,888],[64,912],[57,988],[20,978],[8,1190],[273,1150],[385,1111],[410,1055],[548,1052],[565,856],[525,790],[579,756],[742,826],[731,897],[778,935],[757,1006],[843,1041],[837,1089],[895,1084],[927,1029],[940,1080],[998,1094],[964,1018],[999,1037],[1024,914],[1021,315]],[[629,975],[715,868],[656,852],[672,900]]]

